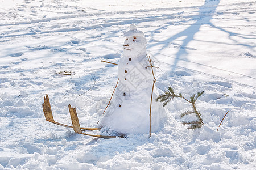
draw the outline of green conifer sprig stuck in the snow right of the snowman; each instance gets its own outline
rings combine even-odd
[[[198,92],[197,94],[193,94],[190,97],[190,100],[188,100],[188,99],[185,99],[185,97],[183,97],[182,94],[175,95],[174,90],[171,87],[169,87],[168,91],[165,91],[164,94],[159,95],[156,98],[156,101],[163,102],[163,106],[166,106],[172,99],[174,99],[176,97],[176,98],[184,99],[185,101],[188,101],[188,103],[191,103],[192,104],[192,109],[190,111],[186,111],[184,113],[181,113],[180,118],[183,118],[184,116],[187,116],[189,114],[194,113],[197,117],[197,120],[195,120],[195,121],[183,121],[181,124],[182,125],[189,125],[188,129],[195,130],[195,129],[200,129],[204,125],[201,113],[199,111],[197,111],[196,104],[195,104],[196,100],[201,95],[203,95],[203,93],[204,93],[204,91]]]

